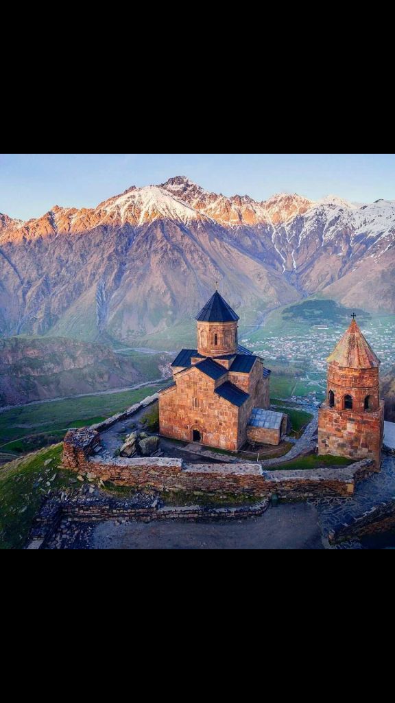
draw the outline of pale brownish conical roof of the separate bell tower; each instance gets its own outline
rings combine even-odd
[[[335,362],[344,368],[377,368],[381,363],[355,320],[351,322],[327,361]]]

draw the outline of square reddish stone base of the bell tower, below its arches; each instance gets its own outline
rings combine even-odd
[[[384,437],[384,404],[376,412],[337,410],[327,404],[318,411],[318,454],[373,459],[380,470]]]

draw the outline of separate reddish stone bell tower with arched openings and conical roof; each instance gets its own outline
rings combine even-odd
[[[373,459],[380,470],[384,403],[379,366],[380,359],[353,320],[328,357],[327,397],[318,412],[318,454]]]

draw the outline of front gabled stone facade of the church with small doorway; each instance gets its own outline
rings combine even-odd
[[[180,375],[176,387],[160,394],[160,434],[192,441],[197,430],[202,444],[238,449],[239,408],[214,393],[222,381],[214,382],[197,369]]]

